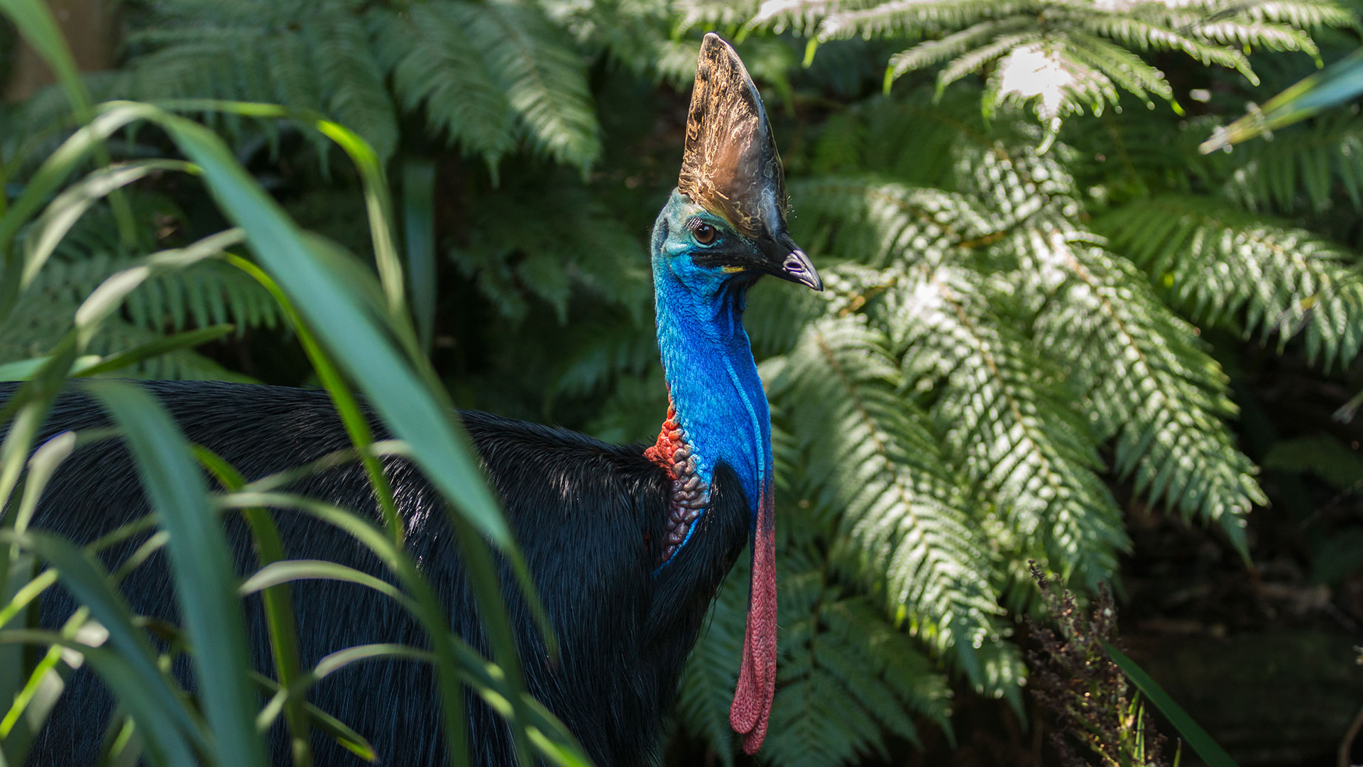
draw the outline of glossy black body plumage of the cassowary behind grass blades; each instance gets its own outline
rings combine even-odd
[[[320,390],[207,382],[143,384],[185,435],[234,464],[248,479],[305,464],[345,449],[349,439]],[[16,385],[0,384],[0,401]],[[692,543],[654,575],[662,554],[669,478],[643,457],[642,446],[607,445],[589,437],[481,412],[462,414],[489,482],[504,501],[536,585],[557,633],[562,662],[551,666],[527,610],[508,588],[530,692],[581,740],[597,764],[656,762],[664,718],[677,677],[701,629],[710,599],[748,538],[750,504],[732,472],[716,474],[709,512]],[[108,424],[99,407],[78,390],[52,408],[42,435]],[[382,434],[382,426],[375,422]],[[451,540],[439,495],[408,463],[386,461],[408,546],[438,590],[458,633],[481,646],[472,592]],[[298,482],[292,490],[345,508],[379,512],[357,463]],[[34,524],[85,543],[149,512],[131,459],[121,446],[78,450],[48,486]],[[275,512],[292,558],[333,560],[379,577],[383,566],[346,534],[293,512]],[[254,569],[245,524],[224,520],[240,572]],[[138,540],[110,550],[110,566]],[[168,562],[154,555],[123,584],[132,610],[176,620]],[[388,579],[391,580],[391,579]],[[503,581],[510,583],[506,573]],[[354,644],[395,641],[423,646],[420,626],[386,596],[335,581],[294,584],[300,654],[305,665]],[[74,603],[50,590],[42,622],[60,625]],[[259,598],[248,598],[258,667],[271,670]],[[188,676],[181,663],[179,676]],[[383,764],[435,764],[444,757],[439,703],[429,667],[375,661],[348,666],[309,695],[323,710],[368,737]],[[91,764],[112,699],[90,671],[67,691],[38,737],[30,764]],[[511,762],[506,725],[470,697],[474,764]],[[282,723],[271,733],[277,763],[288,763]],[[313,736],[320,766],[358,763],[324,737]]]

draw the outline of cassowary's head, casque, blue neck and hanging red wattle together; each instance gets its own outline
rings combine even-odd
[[[777,662],[771,422],[740,321],[746,289],[762,274],[823,289],[785,228],[785,176],[758,89],[737,53],[707,34],[682,175],[653,228],[658,349],[672,407],[645,456],[667,472],[672,487],[658,572],[667,573],[695,546],[692,534],[710,513],[717,467],[732,469],[737,487],[728,487],[741,489],[747,501],[752,580],[729,723],[748,753],[766,737]],[[713,535],[702,538],[710,547],[702,551],[724,545]]]

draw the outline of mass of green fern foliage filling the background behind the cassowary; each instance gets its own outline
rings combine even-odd
[[[953,685],[1021,707],[1013,632],[1039,607],[1026,562],[1079,591],[1112,579],[1131,498],[1214,527],[1249,558],[1246,516],[1268,497],[1236,434],[1243,349],[1363,386],[1358,109],[1197,153],[1246,100],[1356,46],[1340,3],[127,11],[125,60],[87,78],[97,97],[279,102],[353,128],[399,180],[416,326],[455,400],[617,441],[649,438],[665,409],[646,232],[675,184],[696,41],[740,41],[776,121],[793,233],[829,285],[759,287],[746,318],[781,472],[771,764],[853,763],[950,727]],[[30,177],[67,109],[52,91],[0,113],[10,179]],[[204,119],[301,225],[372,252],[334,136]],[[110,150],[164,143],[143,130]],[[169,177],[124,205],[131,236],[93,202],[55,246],[16,311],[26,321],[0,329],[0,362],[45,352],[131,259],[222,225]],[[138,371],[308,382],[279,310],[222,266],[143,285],[91,349],[230,321],[233,338]],[[1319,471],[1300,456],[1326,456],[1344,482],[1356,457],[1311,439],[1268,460]],[[735,759],[741,570],[679,708],[677,737],[721,763]]]

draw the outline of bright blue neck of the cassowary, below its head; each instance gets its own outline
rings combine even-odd
[[[743,329],[746,287],[702,295],[656,259],[658,349],[676,419],[709,484],[728,464],[756,515],[771,483],[771,415]]]

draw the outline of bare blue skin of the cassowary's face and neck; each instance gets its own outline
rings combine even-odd
[[[714,228],[710,243],[696,237],[695,225],[701,222]],[[726,463],[737,474],[756,519],[773,476],[771,415],[743,329],[747,288],[758,273],[732,266],[743,259],[732,259],[728,267],[695,262],[695,257],[717,251],[765,261],[756,243],[673,191],[653,227],[653,288],[664,375],[701,479],[710,484],[714,467]],[[692,524],[691,531],[696,527]],[[691,532],[677,551],[690,538]]]

